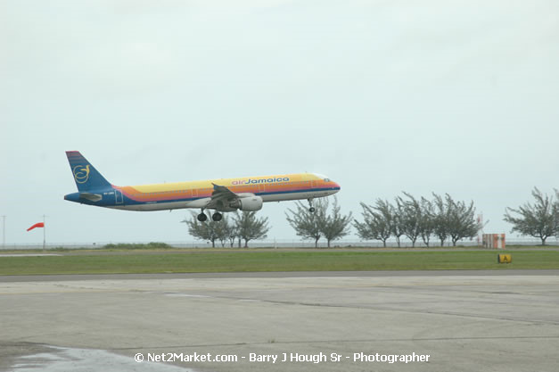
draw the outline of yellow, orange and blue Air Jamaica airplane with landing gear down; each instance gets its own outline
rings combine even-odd
[[[78,151],[67,151],[78,193],[64,200],[126,211],[166,211],[201,209],[197,219],[208,219],[204,210],[214,210],[211,219],[222,219],[221,212],[259,211],[262,203],[307,199],[314,212],[313,199],[336,194],[340,185],[317,173],[210,179],[141,186],[114,186]]]

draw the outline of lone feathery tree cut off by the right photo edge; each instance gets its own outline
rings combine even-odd
[[[554,203],[553,196],[542,194],[538,187],[534,187],[531,194],[535,199],[534,204],[524,203],[518,209],[507,207],[504,219],[513,225],[511,232],[538,237],[541,244],[546,245],[549,236],[559,234],[559,203]],[[559,199],[557,190],[555,196]],[[520,217],[514,217],[511,213],[520,214]]]

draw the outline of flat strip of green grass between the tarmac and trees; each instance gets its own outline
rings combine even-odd
[[[497,253],[513,255],[498,264]],[[558,251],[459,252],[121,252],[1,257],[0,275],[353,271],[440,269],[559,269]]]

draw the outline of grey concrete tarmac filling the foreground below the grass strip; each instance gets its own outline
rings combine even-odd
[[[558,274],[0,277],[0,371],[555,372]]]

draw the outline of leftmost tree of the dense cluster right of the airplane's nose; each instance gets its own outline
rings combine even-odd
[[[358,236],[365,240],[381,240],[382,246],[386,247],[386,241],[392,235],[390,203],[377,199],[374,206],[361,203],[361,208],[363,208],[361,215],[364,221],[353,222],[353,226],[358,230]]]

